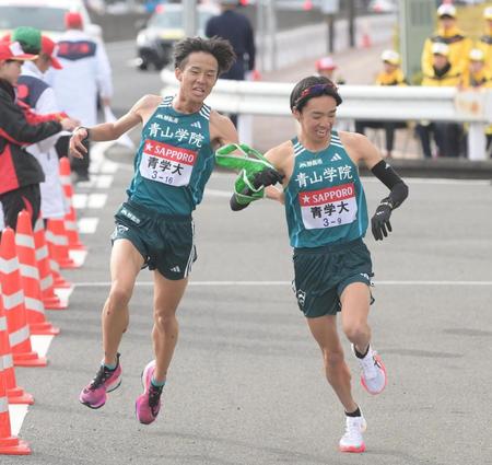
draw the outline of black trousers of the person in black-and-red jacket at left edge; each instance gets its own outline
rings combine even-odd
[[[3,208],[3,221],[5,226],[15,230],[17,228],[17,217],[22,210],[31,213],[31,224],[36,223],[40,211],[40,190],[39,184],[30,184],[19,187],[5,194],[0,194],[0,202]]]

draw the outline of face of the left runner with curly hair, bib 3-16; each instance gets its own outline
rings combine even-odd
[[[203,102],[212,92],[219,73],[216,59],[204,51],[189,55],[185,68],[176,70],[180,89],[192,101]]]

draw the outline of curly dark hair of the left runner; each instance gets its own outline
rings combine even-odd
[[[229,71],[236,60],[236,54],[229,40],[221,37],[186,37],[174,46],[174,67],[184,69],[190,54],[204,51],[212,55],[219,63],[219,74]]]

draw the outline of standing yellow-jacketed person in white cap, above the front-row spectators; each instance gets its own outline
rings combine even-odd
[[[422,71],[424,74],[432,74],[433,53],[432,46],[435,43],[443,43],[449,46],[448,58],[453,66],[458,66],[461,72],[468,67],[468,54],[473,43],[471,38],[456,25],[456,7],[444,3],[437,9],[438,28],[429,37],[422,50]]]

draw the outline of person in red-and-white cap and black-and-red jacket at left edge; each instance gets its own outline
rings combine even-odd
[[[66,119],[30,124],[15,103],[22,63],[35,58],[17,42],[0,43],[0,202],[5,225],[13,229],[23,209],[31,213],[34,225],[40,208],[39,183],[45,179],[39,162],[25,147],[72,126]]]

